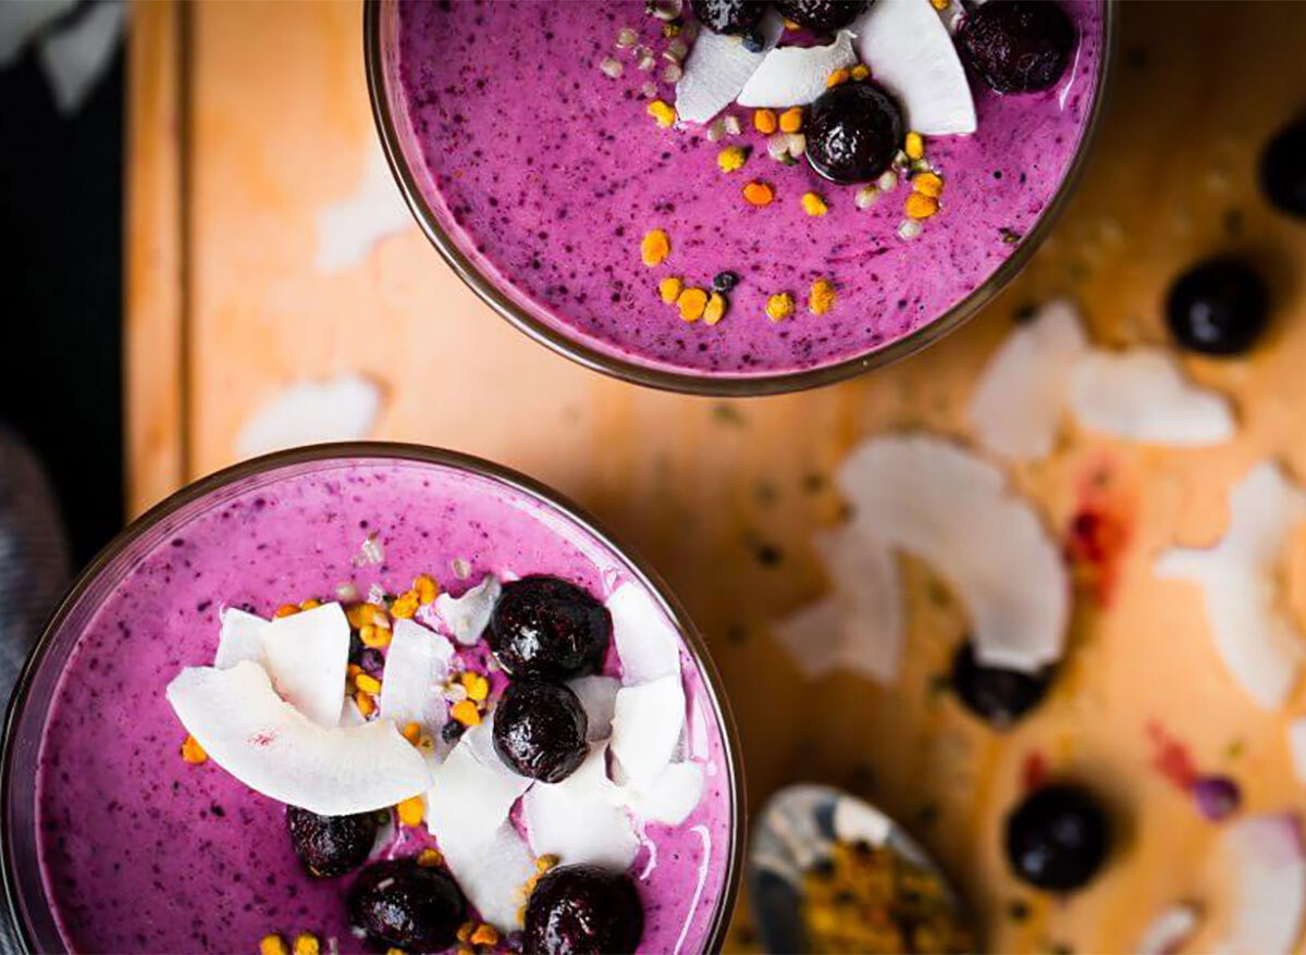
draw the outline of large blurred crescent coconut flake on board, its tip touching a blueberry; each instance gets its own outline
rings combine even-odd
[[[848,457],[837,483],[858,532],[923,560],[960,596],[982,663],[1032,672],[1060,656],[1066,568],[993,464],[932,436],[878,437]]]

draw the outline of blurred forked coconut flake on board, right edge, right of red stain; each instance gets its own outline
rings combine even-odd
[[[1293,530],[1306,519],[1306,492],[1273,462],[1256,464],[1229,492],[1229,527],[1215,547],[1171,548],[1157,577],[1203,591],[1216,650],[1258,706],[1282,706],[1301,669],[1302,634],[1279,599]]]

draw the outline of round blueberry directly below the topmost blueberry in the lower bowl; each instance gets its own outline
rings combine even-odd
[[[559,783],[589,754],[589,718],[562,684],[521,681],[508,686],[494,716],[494,748],[522,776]]]

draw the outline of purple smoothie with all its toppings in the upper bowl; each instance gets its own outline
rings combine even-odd
[[[422,204],[517,309],[644,368],[776,376],[902,339],[1016,253],[1094,112],[1104,16],[401,0],[388,69]]]

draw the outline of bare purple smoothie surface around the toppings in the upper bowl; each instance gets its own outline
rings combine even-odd
[[[926,0],[921,0],[926,3]],[[648,367],[700,374],[795,372],[883,348],[963,301],[1020,247],[1055,197],[1093,110],[1101,68],[1101,0],[1063,0],[1079,42],[1046,93],[999,97],[976,80],[973,136],[929,137],[943,209],[914,240],[897,235],[908,187],[867,209],[857,187],[820,179],[806,162],[781,166],[752,128],[709,142],[701,127],[658,128],[643,91],[675,102],[662,78],[669,40],[644,0],[411,3],[400,8],[398,68],[419,145],[419,188],[444,231],[479,271],[538,321],[590,348]],[[658,53],[650,72],[615,46],[631,27]],[[624,65],[611,80],[599,64]],[[874,64],[871,64],[874,73]],[[726,145],[751,146],[743,170],[717,167]],[[754,207],[742,187],[771,184]],[[799,197],[829,206],[807,215]],[[662,266],[640,239],[665,230]],[[658,279],[710,287],[741,277],[716,326],[686,324]],[[804,307],[815,279],[835,283],[832,311]],[[799,303],[781,322],[769,295]]]

